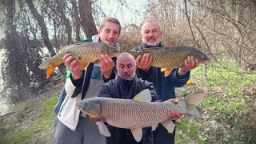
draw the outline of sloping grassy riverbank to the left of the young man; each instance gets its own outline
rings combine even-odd
[[[62,78],[52,78],[38,97],[18,102],[13,109],[16,113],[0,122],[0,144],[52,143],[54,106],[63,86]]]

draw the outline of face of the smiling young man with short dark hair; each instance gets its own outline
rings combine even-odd
[[[119,26],[113,22],[105,22],[101,30],[98,30],[100,42],[106,43],[110,46],[118,41],[120,36]]]

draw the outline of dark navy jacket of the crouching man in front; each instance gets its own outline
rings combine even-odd
[[[117,77],[114,80],[110,80],[99,92],[99,97],[107,98],[123,98],[132,99],[136,94],[142,90],[149,89],[152,95],[152,102],[158,101],[158,95],[154,90],[152,82],[147,82],[141,78],[133,78],[132,80],[126,80],[121,77]],[[151,127],[142,128],[143,136],[140,142],[134,140],[133,135],[129,129],[117,128],[107,125],[110,130],[111,137],[106,137],[106,144],[152,144],[152,132]]]

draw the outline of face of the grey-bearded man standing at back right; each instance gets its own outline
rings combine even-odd
[[[142,42],[150,46],[158,46],[162,33],[157,22],[146,22],[142,26]]]

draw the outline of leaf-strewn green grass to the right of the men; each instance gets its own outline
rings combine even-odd
[[[219,63],[218,63],[219,62]],[[178,130],[182,134],[176,135],[178,143],[238,143],[238,142],[256,142],[250,140],[254,138],[250,132],[245,133],[245,119],[251,119],[256,108],[254,102],[254,82],[256,82],[255,73],[244,73],[242,68],[236,65],[232,59],[218,58],[218,62],[214,62],[204,71],[204,66],[198,66],[190,73],[195,83],[195,87],[199,90],[207,90],[206,96],[201,104],[204,111],[210,113],[210,119],[205,123],[197,123],[186,120],[179,120]],[[196,91],[193,86],[183,86],[179,93],[182,96],[193,94]],[[204,121],[204,120],[202,120]],[[213,130],[206,132],[207,121],[216,121],[220,126],[230,125],[229,130]],[[218,127],[217,125],[217,127]],[[208,125],[207,125],[208,126]],[[213,126],[215,127],[215,126]],[[256,130],[255,126],[252,130]],[[200,133],[202,132],[202,133]],[[206,142],[198,137],[206,138]],[[223,140],[223,141],[222,141]]]

